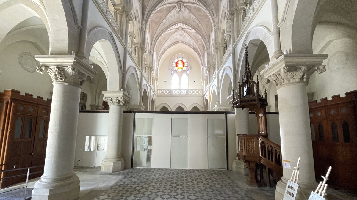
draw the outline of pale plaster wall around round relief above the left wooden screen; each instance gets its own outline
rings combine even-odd
[[[4,89],[16,89],[25,94],[33,94],[34,97],[41,96],[51,98],[50,91],[53,90],[51,77],[45,72],[30,73],[19,65],[18,55],[22,52],[30,52],[41,55],[41,52],[27,41],[18,41],[6,46],[0,52],[0,63],[2,74],[0,76],[0,92]]]

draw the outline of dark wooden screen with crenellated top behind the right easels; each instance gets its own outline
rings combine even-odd
[[[332,172],[329,185],[357,191],[357,91],[310,102],[310,128],[317,179]]]

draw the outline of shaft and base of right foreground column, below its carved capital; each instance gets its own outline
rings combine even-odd
[[[282,84],[277,87],[277,91],[282,159],[291,161],[291,169],[283,168],[283,177],[277,185],[277,190],[285,192],[286,183],[299,156],[299,185],[301,188],[313,190],[317,183],[312,154],[307,83]]]

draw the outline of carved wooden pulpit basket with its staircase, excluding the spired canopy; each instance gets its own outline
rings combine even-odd
[[[275,181],[283,175],[281,147],[261,135],[238,134],[238,159],[246,163],[249,177],[246,184],[260,187],[264,185],[263,169],[260,168],[260,180],[257,176],[257,164],[265,165],[267,186],[270,187],[270,175]]]

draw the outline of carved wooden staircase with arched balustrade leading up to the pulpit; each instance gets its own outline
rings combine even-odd
[[[271,187],[270,175],[274,181],[283,176],[281,146],[271,142],[269,139],[259,136],[260,163],[266,167],[267,186]],[[262,177],[262,174],[261,174]]]

